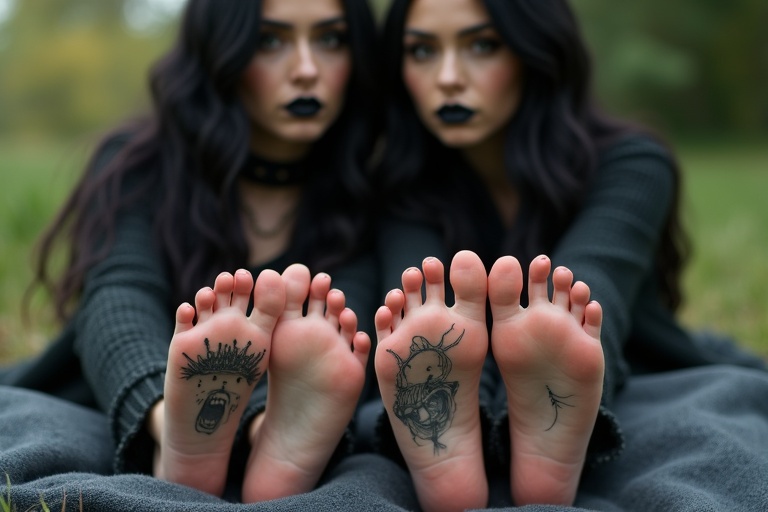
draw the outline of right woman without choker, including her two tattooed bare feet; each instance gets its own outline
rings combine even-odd
[[[728,360],[675,318],[688,254],[680,170],[657,137],[600,112],[564,0],[393,0],[382,48],[378,188],[403,225],[389,229],[430,226],[444,242],[431,255],[456,255],[455,306],[426,259],[377,316],[393,431],[382,442],[397,443],[427,510],[485,506],[497,471],[517,505],[571,505],[583,467],[622,450],[611,408],[631,370]],[[551,264],[562,268],[548,299]],[[574,325],[560,332],[542,308]]]

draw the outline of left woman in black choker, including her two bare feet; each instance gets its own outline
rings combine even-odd
[[[67,321],[55,347],[74,347],[109,415],[118,472],[218,495],[229,476],[246,501],[323,472],[369,350],[345,303],[364,321],[377,295],[374,37],[357,0],[191,0],[151,115],[106,139],[45,236],[38,279]],[[57,388],[49,359],[16,384]],[[268,399],[251,396],[267,369]]]

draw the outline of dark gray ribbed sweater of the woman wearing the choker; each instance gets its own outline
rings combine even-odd
[[[97,172],[124,143],[116,139],[101,150]],[[130,182],[124,186],[130,187]],[[38,389],[104,411],[117,448],[118,473],[151,472],[154,444],[144,424],[163,396],[178,306],[172,302],[171,276],[155,240],[157,200],[152,192],[144,194],[119,214],[109,254],[87,272],[78,308],[50,348],[26,364],[0,372],[0,383]],[[282,272],[295,263],[290,254],[289,250],[249,270],[254,277],[265,268]],[[364,254],[331,276],[332,285],[345,292],[347,306],[357,313],[358,328],[370,334],[380,300],[375,265],[374,258]],[[266,380],[251,396],[241,431],[264,408]],[[247,449],[236,451],[247,454]]]

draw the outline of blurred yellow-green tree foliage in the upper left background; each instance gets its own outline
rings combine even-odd
[[[139,1],[16,2],[1,29],[0,135],[77,137],[143,109],[148,66],[175,20],[131,28]]]

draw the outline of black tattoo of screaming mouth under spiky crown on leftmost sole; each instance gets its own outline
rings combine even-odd
[[[198,432],[212,434],[226,423],[240,404],[240,394],[232,388],[242,390],[244,386],[239,385],[242,381],[251,386],[261,377],[259,363],[267,351],[249,354],[250,347],[249,341],[242,350],[238,349],[237,340],[233,340],[232,345],[219,343],[213,352],[206,338],[205,357],[198,355],[194,361],[184,353],[189,364],[181,368],[181,377],[197,379],[195,401],[201,405],[195,422]]]

